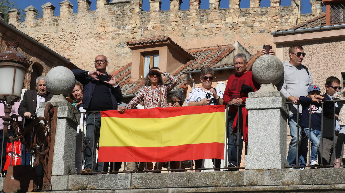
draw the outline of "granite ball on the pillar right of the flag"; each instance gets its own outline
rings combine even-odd
[[[274,55],[262,55],[255,60],[253,78],[259,84],[272,83],[276,85],[284,77],[283,63]]]

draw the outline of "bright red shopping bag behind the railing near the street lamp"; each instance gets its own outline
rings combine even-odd
[[[13,142],[13,156],[12,156],[12,142],[7,143],[6,162],[3,167],[3,171],[7,170],[7,167],[11,165],[11,158],[12,158],[12,165],[20,165],[20,141]]]

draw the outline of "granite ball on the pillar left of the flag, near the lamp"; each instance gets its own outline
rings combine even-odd
[[[67,96],[72,92],[76,78],[72,71],[66,67],[58,66],[49,70],[46,75],[46,85],[50,93]]]

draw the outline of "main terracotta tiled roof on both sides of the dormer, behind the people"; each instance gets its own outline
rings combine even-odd
[[[193,55],[194,60],[190,60],[176,72],[172,73],[179,80],[174,89],[187,87],[186,71],[200,70],[204,67],[219,68],[233,66],[233,64],[217,64],[221,59],[229,55],[235,48],[232,45],[223,45],[217,47],[205,47],[200,49],[186,50]],[[144,80],[133,82],[130,80],[132,64],[129,63],[121,69],[114,71],[116,81],[120,84],[121,92],[124,95],[136,94],[144,85]]]

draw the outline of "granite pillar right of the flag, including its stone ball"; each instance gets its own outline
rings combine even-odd
[[[285,97],[273,86],[284,77],[283,63],[273,55],[263,55],[254,62],[252,73],[261,88],[249,93],[246,99],[248,155],[245,169],[285,169],[288,113]]]

